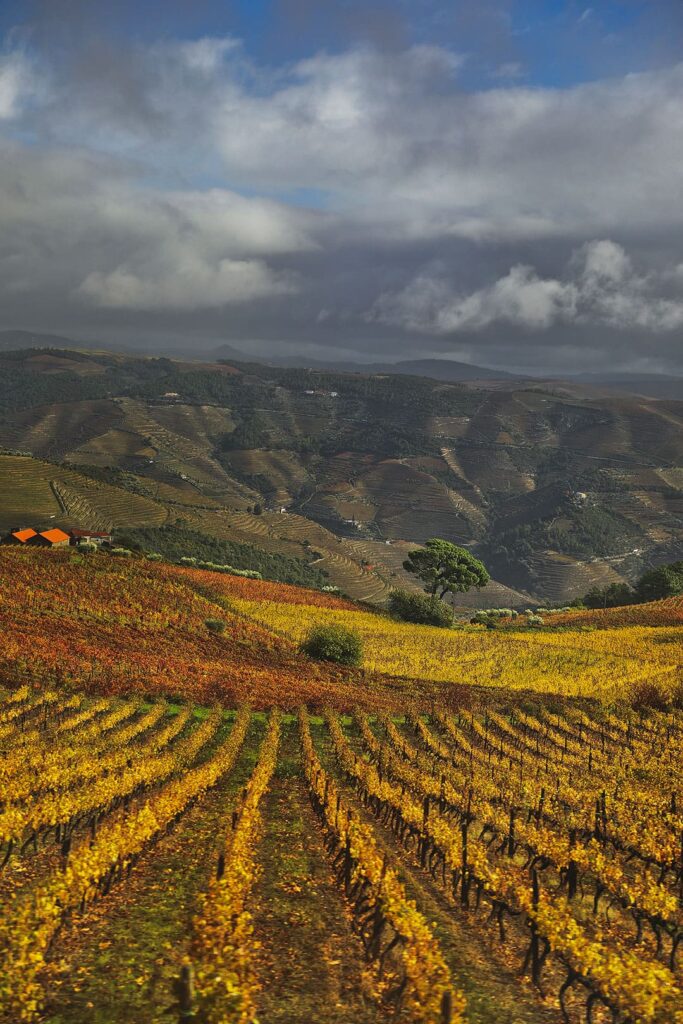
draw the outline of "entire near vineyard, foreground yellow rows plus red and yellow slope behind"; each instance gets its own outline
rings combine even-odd
[[[436,630],[0,548],[0,1021],[672,1024],[681,627],[648,614]],[[322,623],[362,668],[298,652]]]

